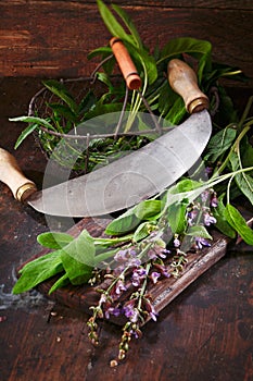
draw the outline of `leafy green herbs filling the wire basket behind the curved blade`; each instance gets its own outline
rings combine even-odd
[[[115,79],[116,62],[111,47],[94,49],[88,58],[99,58],[101,62],[90,76],[93,84],[88,79],[85,84],[84,81],[43,81],[47,93],[39,91],[38,97],[34,97],[29,115],[11,119],[15,122],[28,123],[18,137],[15,148],[30,133],[36,132],[42,149],[49,156],[51,155],[52,159],[64,167],[85,172],[92,171],[97,164],[107,164],[118,158],[121,151],[140,148],[151,139],[151,136],[135,136],[132,124],[139,111],[147,112],[148,107],[161,120],[168,121],[170,124],[178,124],[186,116],[181,97],[173,91],[167,81],[167,63],[172,58],[190,59],[190,62],[198,67],[199,84],[210,96],[211,107],[216,107],[215,93],[212,95],[215,87],[219,94],[223,118],[230,121],[230,116],[229,119],[227,116],[233,110],[231,105],[228,105],[223,87],[217,85],[217,79],[230,76],[237,79],[242,77],[241,72],[228,65],[212,62],[212,45],[208,41],[175,38],[162,49],[156,47],[151,53],[142,42],[131,19],[122,8],[112,5],[119,19],[118,22],[101,0],[98,0],[98,7],[112,36],[119,37],[127,47],[142,78],[141,91],[128,91],[122,77]],[[96,87],[100,89],[97,90]],[[223,107],[225,102],[226,108]],[[116,125],[115,130],[123,135],[132,132],[131,137],[118,135],[118,138],[115,138],[115,131],[106,126],[111,136],[101,138],[100,130],[90,128],[87,123],[99,115],[121,113],[125,110],[129,112],[129,116],[123,126]],[[121,124],[121,120],[118,122]],[[137,130],[147,128],[150,127],[139,122]],[[55,149],[60,142],[60,148]]]

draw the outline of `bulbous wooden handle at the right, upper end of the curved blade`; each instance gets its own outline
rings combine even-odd
[[[199,89],[197,75],[186,62],[177,59],[168,62],[168,82],[182,97],[190,114],[208,109],[208,98]]]

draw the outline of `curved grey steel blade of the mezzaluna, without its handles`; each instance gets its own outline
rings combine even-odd
[[[200,159],[212,132],[206,110],[192,114],[143,148],[30,199],[52,216],[92,217],[129,208],[162,192]]]

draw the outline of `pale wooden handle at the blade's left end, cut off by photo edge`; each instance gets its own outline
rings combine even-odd
[[[2,148],[0,148],[0,181],[9,186],[18,201],[25,201],[37,190],[35,183],[22,173],[15,158]]]

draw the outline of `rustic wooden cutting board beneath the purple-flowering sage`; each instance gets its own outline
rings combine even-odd
[[[68,233],[73,236],[77,236],[84,229],[86,229],[92,236],[102,236],[107,223],[109,220],[106,219],[85,218],[75,224],[68,231]],[[188,287],[194,280],[197,280],[226,254],[230,239],[217,232],[213,233],[213,237],[214,239],[211,247],[206,247],[198,254],[188,255],[188,263],[185,266],[180,278],[165,278],[159,280],[156,284],[150,287],[149,294],[152,296],[156,312],[160,312],[164,307],[166,307],[177,295],[179,295],[186,287]],[[40,257],[48,251],[49,250],[43,249],[30,260]],[[25,263],[22,266],[24,265]],[[81,310],[86,314],[90,314],[89,307],[97,305],[101,295],[96,291],[96,287],[91,287],[89,285],[69,285],[55,291],[51,295],[48,295],[48,292],[55,280],[56,278],[53,278],[39,284],[37,290],[50,299],[61,303],[67,307]],[[106,286],[106,283],[99,284],[99,288],[102,288],[103,286]],[[125,295],[125,298],[126,297],[127,295]],[[124,294],[122,300],[124,304]],[[149,320],[150,318],[148,318],[146,322]],[[124,316],[112,316],[110,321],[122,325],[126,322],[126,319]]]

